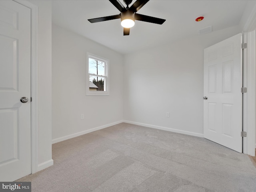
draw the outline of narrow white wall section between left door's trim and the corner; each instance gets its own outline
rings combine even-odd
[[[38,170],[52,165],[52,2],[38,6]]]

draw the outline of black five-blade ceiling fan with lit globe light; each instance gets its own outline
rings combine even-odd
[[[129,5],[132,3],[132,0],[124,0],[126,4],[126,8],[119,0],[109,0],[119,11],[120,14],[106,16],[106,17],[99,17],[94,19],[88,19],[91,23],[108,21],[113,19],[121,19],[121,25],[124,27],[124,35],[130,34],[130,28],[134,26],[134,20],[156,23],[156,24],[163,24],[166,20],[160,19],[156,17],[141,15],[136,13],[140,8],[142,8],[149,0],[136,0],[132,6]]]

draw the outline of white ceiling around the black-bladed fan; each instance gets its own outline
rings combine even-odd
[[[124,3],[122,0],[120,2]],[[132,4],[135,0],[132,1]],[[90,23],[88,19],[119,14],[108,0],[53,0],[52,22],[122,54],[198,36],[212,26],[221,30],[239,24],[247,0],[150,0],[137,13],[166,19],[162,25],[135,21],[123,36],[120,19]],[[130,5],[132,5],[130,4]],[[196,22],[198,16],[204,20]]]

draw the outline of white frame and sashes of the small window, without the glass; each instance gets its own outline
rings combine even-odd
[[[89,73],[89,58],[93,58],[95,60],[99,60],[105,63],[104,65],[104,70],[105,70],[105,76],[102,75],[96,75],[96,74],[90,74]],[[109,95],[109,59],[103,58],[101,56],[92,54],[87,52],[86,53],[86,95],[91,96],[91,95]],[[92,76],[98,76],[105,78],[104,80],[104,91],[90,91],[90,75]]]

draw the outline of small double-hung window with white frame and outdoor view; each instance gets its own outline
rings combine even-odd
[[[87,53],[86,95],[109,95],[109,60]]]

